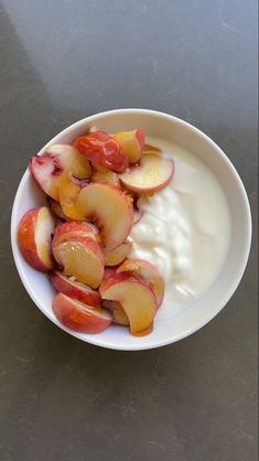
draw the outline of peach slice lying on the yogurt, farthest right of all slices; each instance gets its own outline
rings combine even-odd
[[[147,153],[141,157],[140,165],[120,174],[120,180],[130,191],[149,194],[164,189],[170,183],[173,171],[172,160]]]

